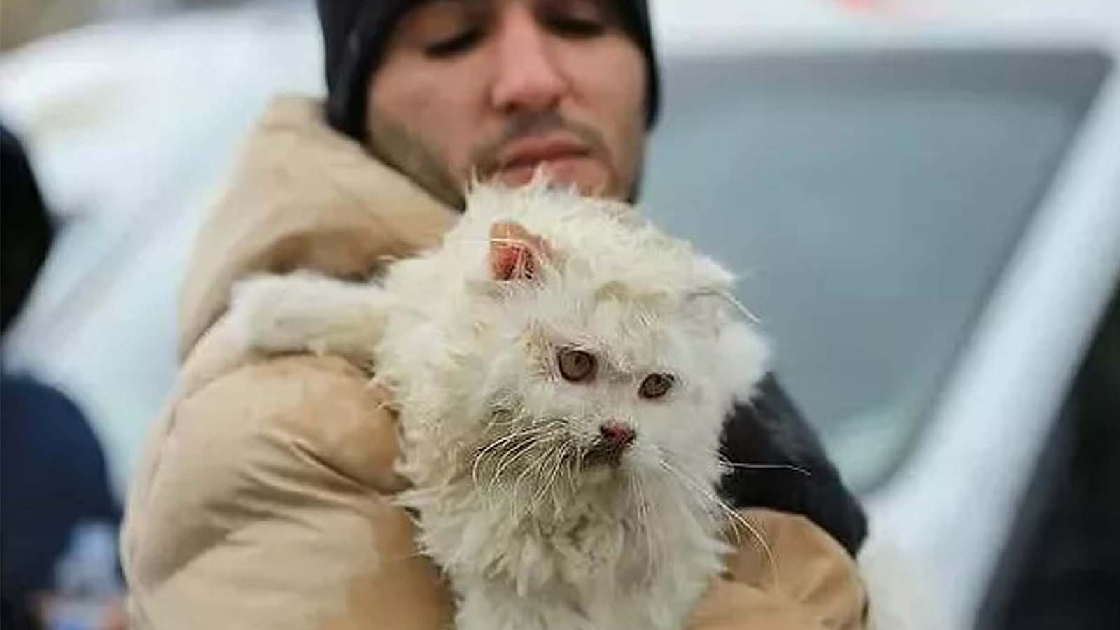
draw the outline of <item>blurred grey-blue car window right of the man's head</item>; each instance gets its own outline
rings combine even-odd
[[[1108,71],[1027,50],[666,68],[643,201],[740,275],[857,489],[913,442]]]

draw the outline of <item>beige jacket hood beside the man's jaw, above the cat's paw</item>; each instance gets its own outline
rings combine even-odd
[[[365,278],[433,247],[458,214],[338,133],[312,99],[268,106],[195,242],[179,309],[186,356],[253,272]]]

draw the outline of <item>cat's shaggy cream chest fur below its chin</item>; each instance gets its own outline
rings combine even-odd
[[[472,485],[402,495],[419,507],[424,553],[455,584],[459,630],[681,628],[719,571],[715,521],[672,504],[638,521],[609,481],[520,519],[515,500]]]

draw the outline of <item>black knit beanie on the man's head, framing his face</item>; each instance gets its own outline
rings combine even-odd
[[[316,0],[323,26],[327,71],[327,121],[357,139],[366,132],[370,73],[384,50],[396,20],[421,0]],[[646,126],[653,127],[660,106],[657,61],[645,0],[616,0],[623,28],[646,59]]]

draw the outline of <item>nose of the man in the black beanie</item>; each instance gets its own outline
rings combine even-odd
[[[568,90],[554,58],[550,35],[532,9],[511,2],[498,26],[497,68],[491,104],[503,113],[553,109]]]

